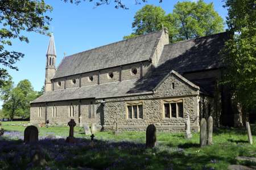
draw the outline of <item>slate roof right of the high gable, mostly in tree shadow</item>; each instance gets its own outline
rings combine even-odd
[[[154,72],[159,75],[175,70],[182,74],[224,67],[219,52],[227,39],[228,32],[222,32],[165,45]]]

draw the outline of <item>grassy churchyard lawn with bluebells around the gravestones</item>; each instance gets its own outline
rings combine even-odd
[[[27,122],[2,122],[7,131],[20,131],[26,127],[18,126]],[[76,145],[67,145],[64,139],[42,140],[39,145],[44,153],[47,166],[52,169],[227,169],[229,164],[256,165],[251,162],[238,162],[237,156],[256,157],[256,129],[251,127],[253,145],[247,142],[245,129],[220,129],[213,134],[212,146],[199,146],[199,133],[194,133],[191,140],[181,133],[157,133],[157,146],[145,149],[146,132],[122,132],[113,135],[112,132],[98,132],[93,145],[89,136],[80,134],[82,128],[75,128],[75,137],[82,138]],[[39,128],[39,135],[49,134],[68,136],[68,127]],[[7,142],[9,142],[7,144]],[[0,169],[15,168],[13,159],[2,158],[1,155],[22,150],[35,149],[22,145],[20,140],[0,141]],[[10,149],[7,149],[13,145]],[[2,147],[2,148],[1,148]],[[5,149],[6,148],[6,149]],[[15,150],[16,148],[16,150]],[[19,151],[18,151],[19,150]],[[27,168],[29,156],[20,154],[20,160],[15,165]],[[2,160],[2,162],[1,162]],[[2,166],[2,167],[1,167]]]

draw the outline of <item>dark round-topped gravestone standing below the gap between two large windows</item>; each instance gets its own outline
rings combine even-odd
[[[156,128],[155,125],[151,124],[147,126],[146,131],[146,147],[152,148],[156,142]]]

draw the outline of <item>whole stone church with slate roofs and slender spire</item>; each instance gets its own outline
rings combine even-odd
[[[168,30],[64,57],[56,67],[53,35],[46,53],[45,92],[31,102],[31,123],[95,124],[98,130],[199,131],[200,119],[221,124],[229,110],[218,85],[219,54],[228,33],[170,43]],[[222,115],[222,116],[221,116]],[[224,116],[223,116],[224,115]]]

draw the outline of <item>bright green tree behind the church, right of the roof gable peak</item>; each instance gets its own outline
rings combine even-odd
[[[188,40],[224,31],[224,22],[214,10],[213,3],[177,2],[174,16],[179,23],[179,37]]]

